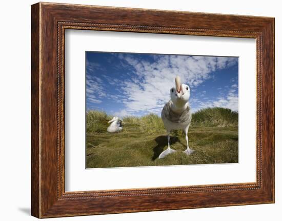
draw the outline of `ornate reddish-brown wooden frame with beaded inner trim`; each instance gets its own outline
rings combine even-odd
[[[32,25],[32,203],[38,218],[274,203],[274,18],[37,3]],[[65,192],[65,30],[256,39],[256,182]]]

